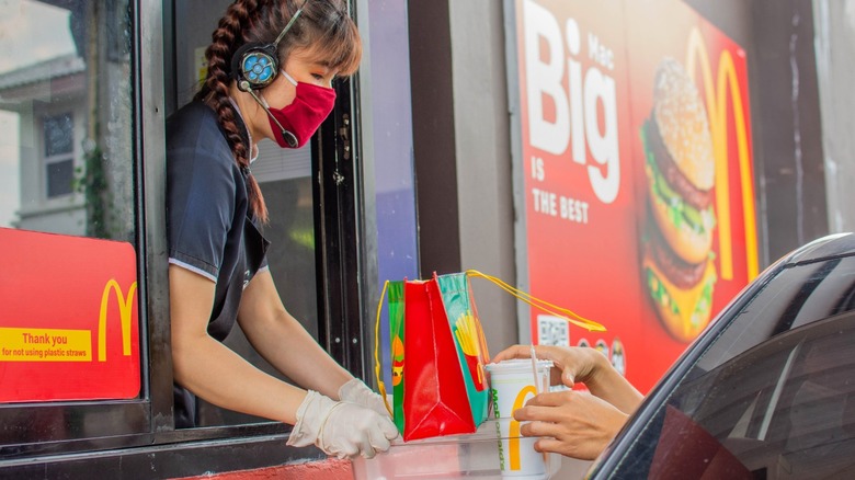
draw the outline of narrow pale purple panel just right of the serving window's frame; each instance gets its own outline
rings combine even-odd
[[[368,58],[379,60],[362,67],[372,79],[361,85],[364,94],[369,95],[362,107],[368,114],[365,118],[371,121],[364,130],[371,137],[363,148],[365,162],[373,162],[374,170],[377,285],[381,286],[387,279],[419,277],[412,106],[410,90],[400,88],[410,84],[410,52],[406,1],[371,0],[367,11]],[[383,364],[390,365],[385,309],[383,315]],[[391,385],[388,369],[383,381]]]

